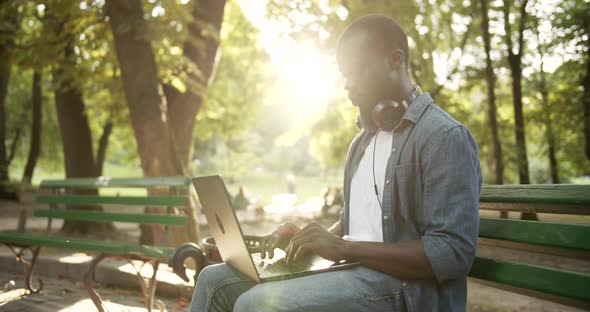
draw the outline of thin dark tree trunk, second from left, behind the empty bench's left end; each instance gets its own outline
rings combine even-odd
[[[33,73],[33,125],[31,127],[31,146],[29,157],[25,165],[22,182],[30,184],[33,179],[33,171],[41,153],[41,69]]]

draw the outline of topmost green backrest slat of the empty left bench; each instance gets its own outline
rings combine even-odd
[[[63,180],[43,180],[41,188],[97,188],[97,187],[129,187],[146,188],[151,186],[181,186],[191,183],[190,177],[144,177],[144,178],[72,178]]]

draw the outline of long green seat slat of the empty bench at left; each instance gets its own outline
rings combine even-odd
[[[43,246],[80,251],[102,252],[111,255],[139,253],[144,256],[162,258],[170,255],[174,249],[139,244],[85,240],[57,236],[42,236],[28,233],[0,232],[0,241],[24,246]]]

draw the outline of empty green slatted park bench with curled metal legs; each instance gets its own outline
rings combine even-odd
[[[84,277],[85,287],[99,311],[103,311],[102,302],[95,287],[95,270],[98,263],[107,257],[116,257],[129,261],[137,271],[137,277],[141,285],[141,292],[145,305],[151,311],[156,289],[156,274],[161,261],[166,261],[174,252],[174,248],[167,246],[142,245],[138,243],[93,240],[86,238],[67,237],[63,233],[51,235],[52,219],[93,221],[93,222],[125,222],[140,225],[159,225],[165,229],[165,236],[173,227],[182,227],[180,230],[187,232],[191,240],[198,241],[198,226],[195,218],[187,215],[194,214],[195,209],[191,194],[192,186],[189,177],[146,177],[146,178],[79,178],[66,180],[45,180],[41,182],[41,190],[49,190],[48,195],[38,195],[36,203],[43,206],[49,205],[49,209],[34,209],[33,216],[47,218],[45,233],[30,233],[24,231],[24,222],[19,222],[20,231],[0,232],[0,243],[10,247],[19,262],[25,264],[25,285],[30,292],[38,292],[42,289],[41,280],[38,285],[33,285],[32,275],[41,247],[70,249],[83,252],[97,253]],[[146,195],[119,196],[104,195],[100,193],[113,192],[113,188],[145,189]],[[94,194],[88,194],[88,190],[94,190]],[[103,190],[103,192],[97,192]],[[86,193],[86,194],[84,194]],[[141,191],[140,191],[141,193]],[[154,195],[157,194],[157,195]],[[84,209],[84,206],[117,205],[129,206],[162,206],[159,213],[129,213],[107,212]],[[70,206],[68,209],[63,209]],[[72,207],[73,206],[73,207]],[[120,210],[120,209],[119,209]],[[192,221],[191,221],[192,220]],[[164,240],[165,241],[165,240]],[[30,259],[24,259],[26,251],[32,253]],[[133,260],[139,260],[138,268]],[[153,268],[153,274],[149,279],[144,279],[140,274],[141,267],[149,263]]]

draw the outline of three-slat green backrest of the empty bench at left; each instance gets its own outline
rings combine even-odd
[[[139,224],[161,224],[184,226],[187,224],[186,213],[179,215],[174,209],[187,213],[191,207],[191,180],[189,177],[145,177],[145,178],[74,178],[63,180],[43,180],[41,189],[51,190],[51,195],[38,195],[37,204],[48,204],[49,209],[36,209],[36,217],[56,218],[64,220],[95,221],[95,222],[128,222]],[[145,195],[120,196],[100,194],[101,189],[139,189]],[[159,194],[148,195],[150,190],[158,189]],[[91,194],[84,191],[96,190]],[[77,209],[55,209],[58,205],[76,206]],[[161,213],[127,213],[103,212],[83,209],[84,206],[120,205],[120,206],[163,206],[168,207]]]

